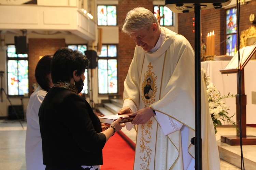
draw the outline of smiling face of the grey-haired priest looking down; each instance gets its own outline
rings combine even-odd
[[[157,35],[157,24],[153,23],[149,30],[141,29],[130,33],[130,37],[133,38],[134,42],[141,46],[144,51],[150,51],[155,47],[159,36]]]

